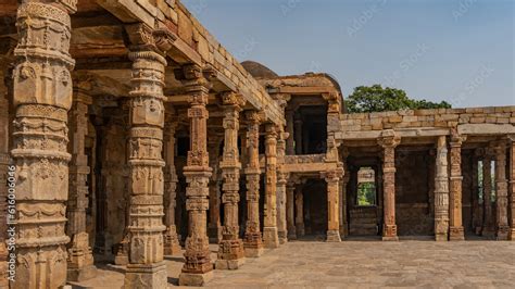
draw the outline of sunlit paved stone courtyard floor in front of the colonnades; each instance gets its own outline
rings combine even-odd
[[[212,247],[213,260],[216,246]],[[177,285],[183,259],[167,259]],[[74,288],[120,288],[123,267]],[[215,271],[212,288],[515,288],[515,242],[294,241],[247,260],[238,271]]]

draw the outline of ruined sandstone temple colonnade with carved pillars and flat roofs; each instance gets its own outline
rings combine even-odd
[[[97,262],[166,288],[183,250],[179,285],[202,286],[305,236],[515,240],[515,106],[349,114],[331,76],[239,63],[178,0],[0,14],[11,288],[95,278]],[[3,288],[4,222],[0,238]]]

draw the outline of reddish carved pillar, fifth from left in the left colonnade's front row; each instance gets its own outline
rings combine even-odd
[[[247,178],[247,226],[244,230],[244,254],[258,257],[263,253],[263,241],[260,231],[260,123],[261,115],[256,111],[246,114],[248,121],[247,155],[249,162],[244,171]]]

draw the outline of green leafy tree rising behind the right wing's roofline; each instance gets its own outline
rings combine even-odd
[[[424,99],[411,99],[402,89],[384,88],[381,85],[354,88],[346,104],[349,113],[451,108],[445,101],[437,103]]]

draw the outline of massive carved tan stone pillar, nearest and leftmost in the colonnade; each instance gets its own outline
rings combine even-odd
[[[22,1],[13,71],[16,167],[16,281],[12,288],[66,282],[67,112],[74,60],[68,53],[76,1]],[[3,221],[2,221],[3,222]]]

